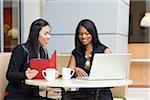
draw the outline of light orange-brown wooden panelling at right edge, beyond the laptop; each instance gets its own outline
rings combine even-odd
[[[150,59],[150,43],[129,44],[132,59]],[[150,87],[150,61],[132,62],[129,79],[133,80],[131,87]]]

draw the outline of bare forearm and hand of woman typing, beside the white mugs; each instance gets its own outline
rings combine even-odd
[[[74,55],[71,55],[68,67],[74,69],[77,76],[88,76],[88,74],[82,68],[76,67]]]

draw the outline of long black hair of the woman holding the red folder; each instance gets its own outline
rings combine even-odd
[[[38,55],[40,47],[38,42],[39,32],[44,26],[47,25],[50,26],[47,21],[43,19],[37,19],[30,26],[29,37],[27,42],[31,45],[36,55]]]

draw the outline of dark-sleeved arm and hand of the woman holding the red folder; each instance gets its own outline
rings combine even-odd
[[[21,83],[24,82],[25,79],[32,79],[38,74],[37,70],[30,70],[30,68],[28,68],[27,55],[27,52],[25,52],[21,46],[17,46],[13,50],[6,73],[9,82]]]

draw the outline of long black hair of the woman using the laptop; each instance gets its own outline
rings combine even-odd
[[[98,39],[98,33],[97,33],[97,29],[96,29],[94,22],[92,22],[89,19],[83,19],[79,22],[76,28],[76,34],[75,34],[75,48],[76,49],[78,49],[79,51],[85,50],[85,46],[81,43],[79,39],[80,26],[84,27],[92,35],[92,44],[94,48],[101,44]]]

